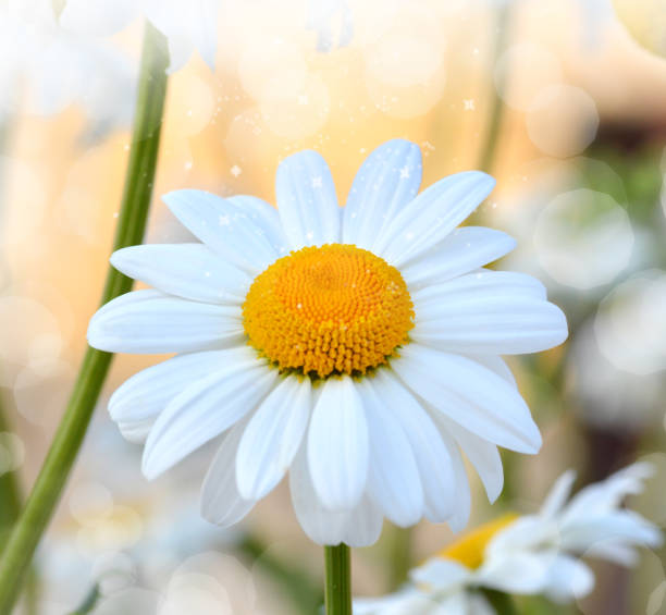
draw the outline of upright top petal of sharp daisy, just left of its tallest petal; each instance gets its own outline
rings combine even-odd
[[[340,242],[341,211],[325,160],[305,150],[284,159],[275,179],[278,212],[293,249]]]

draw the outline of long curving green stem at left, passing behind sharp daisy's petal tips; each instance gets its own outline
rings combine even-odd
[[[146,24],[136,116],[113,249],[139,244],[146,227],[166,94],[166,39]],[[132,280],[109,268],[101,304],[128,292]],[[0,613],[11,613],[81,447],[112,355],[88,348],[51,448],[0,559]]]

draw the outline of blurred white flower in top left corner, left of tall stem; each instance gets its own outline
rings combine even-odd
[[[136,69],[110,44],[58,23],[51,2],[0,9],[0,121],[25,93],[28,112],[51,115],[77,103],[98,137],[132,120]]]

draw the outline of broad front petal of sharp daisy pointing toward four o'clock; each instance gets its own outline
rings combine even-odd
[[[539,428],[522,397],[503,378],[466,357],[418,344],[405,346],[400,355],[393,361],[395,372],[439,411],[505,448],[539,451]]]

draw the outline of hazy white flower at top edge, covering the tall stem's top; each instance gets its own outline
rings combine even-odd
[[[169,41],[169,72],[183,67],[197,50],[214,67],[221,0],[67,0],[60,15],[63,28],[108,36],[141,14]]]

